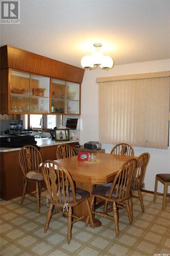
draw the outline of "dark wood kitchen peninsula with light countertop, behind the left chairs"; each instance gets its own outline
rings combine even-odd
[[[43,161],[47,159],[55,160],[57,146],[59,144],[69,144],[74,147],[78,140],[55,141],[48,138],[36,139],[37,145],[40,146],[40,153]],[[0,147],[1,155],[1,198],[11,200],[22,195],[23,174],[19,166],[18,152],[20,148]],[[31,182],[30,182],[31,183]],[[28,191],[34,191],[34,184],[28,185]]]

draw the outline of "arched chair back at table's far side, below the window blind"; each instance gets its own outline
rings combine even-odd
[[[134,150],[133,150],[133,147],[128,143],[118,143],[112,148],[110,154],[133,157]]]

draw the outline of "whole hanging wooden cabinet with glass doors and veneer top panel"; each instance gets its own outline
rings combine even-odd
[[[1,114],[80,115],[84,70],[1,47]]]

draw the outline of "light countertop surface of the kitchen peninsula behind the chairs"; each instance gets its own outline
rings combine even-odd
[[[76,143],[79,142],[78,140],[69,140],[69,141],[56,141],[49,138],[41,138],[41,139],[35,139],[37,141],[37,146],[44,147],[44,146],[55,146],[59,144],[65,144],[65,143]],[[10,151],[19,151],[20,147],[0,147],[0,152],[10,152]]]

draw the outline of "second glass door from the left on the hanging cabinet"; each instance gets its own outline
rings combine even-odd
[[[50,78],[30,75],[30,113],[50,112]]]

